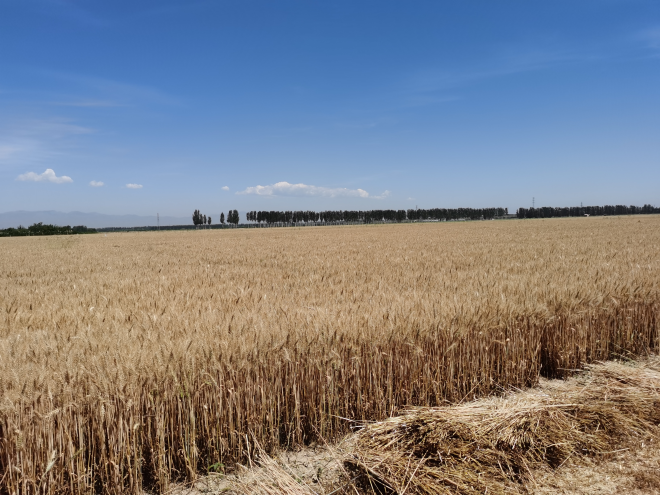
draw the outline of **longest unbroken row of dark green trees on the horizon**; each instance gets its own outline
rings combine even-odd
[[[250,211],[248,222],[258,224],[296,223],[382,223],[404,221],[489,220],[503,217],[506,208],[433,208],[429,210],[368,210],[368,211]]]

